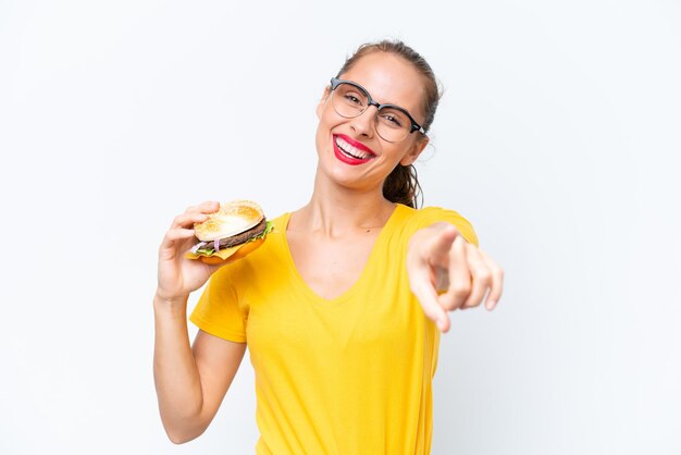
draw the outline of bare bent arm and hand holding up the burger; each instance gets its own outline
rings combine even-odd
[[[193,224],[216,211],[216,202],[190,207],[173,221],[159,248],[153,298],[153,378],[163,427],[171,441],[199,436],[211,422],[238,367],[246,343],[199,331],[194,348],[187,329],[187,299],[221,266],[184,258],[194,243]]]

